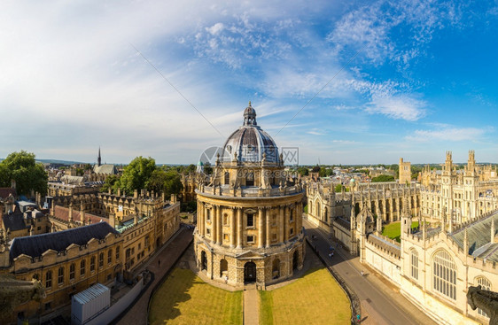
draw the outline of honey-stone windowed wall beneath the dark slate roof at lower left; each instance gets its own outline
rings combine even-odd
[[[29,252],[37,251],[29,249],[30,246],[33,248],[38,245],[33,236],[16,238],[11,246],[1,245],[1,272],[11,274],[21,281],[40,281],[44,295],[40,301],[31,300],[15,306],[11,318],[0,322],[11,323],[16,322],[18,317],[22,320],[43,316],[61,306],[67,306],[74,293],[86,290],[97,282],[113,283],[122,271],[123,237],[108,225],[105,224],[108,229],[102,226],[104,224],[87,226],[100,229],[96,231],[96,236],[89,236],[84,244],[74,244],[82,242],[81,234],[73,235],[74,230],[78,229],[68,230],[64,234],[42,235],[43,245],[49,247],[42,253]],[[88,233],[92,234],[93,230],[90,229]],[[61,239],[61,235],[64,238]],[[57,246],[58,242],[64,242],[65,239],[70,243],[71,238],[74,240],[73,244],[68,244],[60,251],[51,248],[51,245]],[[15,240],[32,243],[23,242],[20,251],[12,251],[16,247]],[[56,243],[52,244],[53,242]]]

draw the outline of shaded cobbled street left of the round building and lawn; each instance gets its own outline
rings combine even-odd
[[[166,275],[167,270],[173,267],[175,260],[180,257],[185,248],[191,243],[191,239],[192,230],[180,228],[180,231],[175,234],[175,237],[162,246],[160,251],[141,267],[141,269],[146,267],[155,275],[154,281],[149,288],[147,288],[142,297],[136,301],[136,304],[131,306],[131,308],[128,309],[128,312],[117,322],[118,325],[142,325],[147,323],[147,307],[155,284],[160,282],[162,277]]]

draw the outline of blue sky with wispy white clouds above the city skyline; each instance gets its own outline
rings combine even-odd
[[[0,157],[196,163],[250,100],[303,164],[498,162],[496,30],[496,2],[5,1]]]

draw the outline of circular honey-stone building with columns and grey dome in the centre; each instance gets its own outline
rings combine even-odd
[[[284,173],[282,154],[245,108],[213,176],[198,184],[194,245],[198,272],[214,281],[265,285],[303,265],[302,186]]]

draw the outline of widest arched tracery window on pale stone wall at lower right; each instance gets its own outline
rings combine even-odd
[[[456,299],[456,265],[447,251],[438,251],[432,258],[432,289]]]

